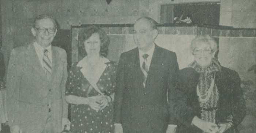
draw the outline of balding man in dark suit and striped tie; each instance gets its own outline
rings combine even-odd
[[[142,17],[134,24],[138,47],[121,54],[114,103],[115,133],[172,133],[172,100],[178,72],[174,52],[154,43],[157,22]],[[167,129],[168,127],[168,129]]]

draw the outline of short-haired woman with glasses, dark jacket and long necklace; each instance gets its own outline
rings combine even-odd
[[[237,133],[246,113],[238,73],[221,66],[210,36],[197,36],[190,49],[195,61],[178,78],[176,133]]]

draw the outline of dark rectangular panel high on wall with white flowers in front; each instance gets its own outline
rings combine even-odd
[[[221,3],[184,3],[161,5],[160,23],[219,25]]]

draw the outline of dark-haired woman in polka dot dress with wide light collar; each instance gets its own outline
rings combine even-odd
[[[82,29],[79,46],[85,57],[69,72],[66,100],[71,103],[71,133],[113,133],[115,62],[109,61],[109,37],[96,26]]]

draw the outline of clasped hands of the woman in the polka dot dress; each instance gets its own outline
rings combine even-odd
[[[87,98],[87,104],[91,107],[91,109],[99,111],[104,109],[110,100],[111,99],[109,96],[91,96]]]

